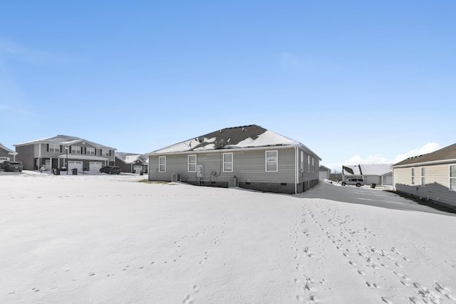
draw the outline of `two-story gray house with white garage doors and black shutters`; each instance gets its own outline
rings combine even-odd
[[[115,164],[115,149],[83,140],[57,135],[14,145],[24,169],[77,169],[78,172],[99,172],[101,167]]]

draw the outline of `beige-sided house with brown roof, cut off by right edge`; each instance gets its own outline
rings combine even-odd
[[[391,167],[395,191],[456,209],[456,144]]]

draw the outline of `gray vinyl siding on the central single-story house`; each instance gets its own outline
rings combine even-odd
[[[298,149],[299,150],[299,149]],[[277,151],[277,171],[266,172],[266,151]],[[304,150],[303,150],[304,151]],[[223,154],[232,153],[233,171],[223,172]],[[296,159],[294,147],[271,147],[264,150],[217,150],[216,152],[189,152],[188,154],[153,154],[149,160],[149,179],[170,182],[172,174],[180,174],[182,182],[191,184],[216,185],[227,187],[230,178],[236,177],[239,187],[250,189],[272,189],[271,192],[294,193],[294,184],[297,182],[297,191],[303,192],[318,183],[319,159],[314,157],[314,167],[308,172],[307,159],[309,152],[304,152],[304,172],[299,170],[301,157],[298,152]],[[203,177],[197,178],[197,172],[188,172],[188,155],[197,155],[197,165],[203,165]],[[166,157],[166,172],[159,172],[158,159]],[[295,166],[298,167],[296,176]],[[297,178],[297,181],[296,181]],[[259,185],[262,184],[262,185]],[[242,186],[241,186],[242,185]],[[279,185],[279,188],[276,186]]]

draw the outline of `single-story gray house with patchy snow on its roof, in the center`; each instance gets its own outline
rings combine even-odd
[[[301,142],[245,125],[150,152],[148,179],[296,194],[318,184],[320,161]]]

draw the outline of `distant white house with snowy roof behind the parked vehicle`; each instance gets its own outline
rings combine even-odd
[[[342,166],[342,180],[350,177],[363,177],[364,184],[392,185],[391,164],[356,164]]]

